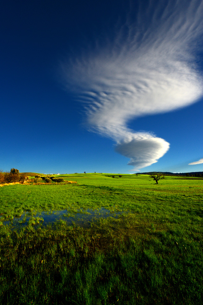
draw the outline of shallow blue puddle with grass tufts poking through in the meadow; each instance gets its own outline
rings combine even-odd
[[[12,224],[13,226],[26,226],[26,225],[33,225],[33,226],[46,226],[49,223],[54,223],[57,220],[64,220],[67,222],[68,225],[73,224],[80,226],[87,226],[88,222],[91,222],[93,219],[98,218],[107,218],[109,216],[118,218],[120,215],[128,213],[127,211],[112,211],[108,209],[86,209],[80,210],[79,212],[73,213],[68,210],[61,210],[61,211],[42,211],[36,212],[32,215],[30,212],[23,213],[20,217],[14,217],[13,219],[2,221],[4,225]],[[3,218],[2,218],[3,219]],[[1,220],[1,218],[0,218]]]

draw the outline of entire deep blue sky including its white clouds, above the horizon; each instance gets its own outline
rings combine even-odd
[[[203,0],[4,1],[0,169],[203,171]]]

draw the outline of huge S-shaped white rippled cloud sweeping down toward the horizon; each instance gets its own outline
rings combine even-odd
[[[67,88],[85,102],[89,128],[111,137],[135,169],[157,162],[169,143],[129,129],[128,121],[190,105],[203,94],[193,49],[202,35],[203,1],[154,1],[153,10],[152,2],[142,8],[140,0],[113,42],[61,64]]]

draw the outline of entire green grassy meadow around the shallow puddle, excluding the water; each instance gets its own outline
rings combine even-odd
[[[77,183],[0,188],[0,303],[202,304],[202,180],[60,176]],[[40,225],[36,212],[52,210],[98,217]],[[12,223],[24,212],[33,222]]]

